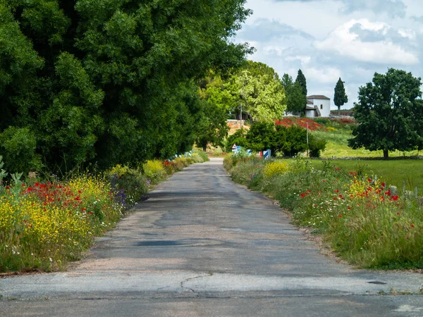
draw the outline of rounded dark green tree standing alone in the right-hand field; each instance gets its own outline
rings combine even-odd
[[[372,82],[360,87],[354,117],[357,127],[350,147],[370,151],[410,151],[423,144],[423,102],[421,78],[390,68],[375,73]]]

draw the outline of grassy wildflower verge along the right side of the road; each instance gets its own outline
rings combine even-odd
[[[264,162],[228,156],[233,180],[271,194],[293,222],[321,233],[343,259],[362,268],[423,268],[422,206],[384,182],[357,178],[325,161]]]

